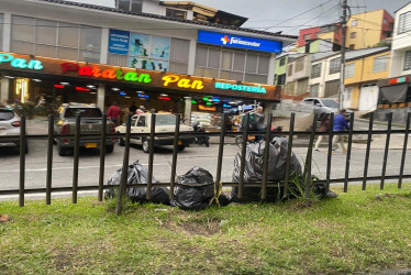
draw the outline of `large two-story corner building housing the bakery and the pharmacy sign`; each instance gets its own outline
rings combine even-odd
[[[191,8],[189,8],[191,7]],[[181,14],[184,13],[184,14]],[[2,0],[1,100],[101,108],[132,101],[187,112],[278,101],[276,56],[295,36],[240,28],[244,18],[184,3]],[[266,108],[269,110],[270,108]]]

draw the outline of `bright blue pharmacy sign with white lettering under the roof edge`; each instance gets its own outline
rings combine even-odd
[[[237,47],[276,54],[280,54],[282,52],[282,43],[279,41],[260,40],[255,37],[207,31],[198,31],[198,42],[225,47]]]

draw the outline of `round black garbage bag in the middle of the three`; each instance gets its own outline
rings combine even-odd
[[[177,177],[177,184],[174,189],[174,199],[171,206],[186,210],[206,209],[214,198],[213,176],[201,167],[193,167],[186,175]],[[230,204],[229,198],[221,194],[219,196],[220,206]]]

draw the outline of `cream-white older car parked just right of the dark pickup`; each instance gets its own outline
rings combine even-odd
[[[151,133],[151,123],[152,121],[152,114],[151,113],[142,113],[142,114],[135,114],[132,118],[132,124],[131,124],[131,132],[132,133]],[[176,117],[170,113],[157,113],[156,114],[156,127],[155,132],[156,133],[174,133],[176,131]],[[125,124],[122,124],[118,128],[115,128],[116,133],[125,133],[126,127]],[[192,127],[188,125],[180,125],[180,132],[192,132]],[[186,146],[191,144],[195,141],[193,136],[180,136],[178,141],[178,150],[182,151]],[[130,139],[130,143],[132,144],[141,144],[143,147],[144,153],[149,152],[149,138],[133,138]],[[123,138],[119,139],[119,144],[121,146],[124,146],[125,141]],[[162,146],[162,145],[173,145],[174,144],[174,136],[156,136],[154,140],[154,146]]]

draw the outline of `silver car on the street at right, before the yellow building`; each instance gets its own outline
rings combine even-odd
[[[304,98],[299,105],[293,108],[297,112],[307,112],[318,114],[321,119],[327,113],[338,113],[338,102],[332,98]],[[347,114],[352,110],[347,109]]]

